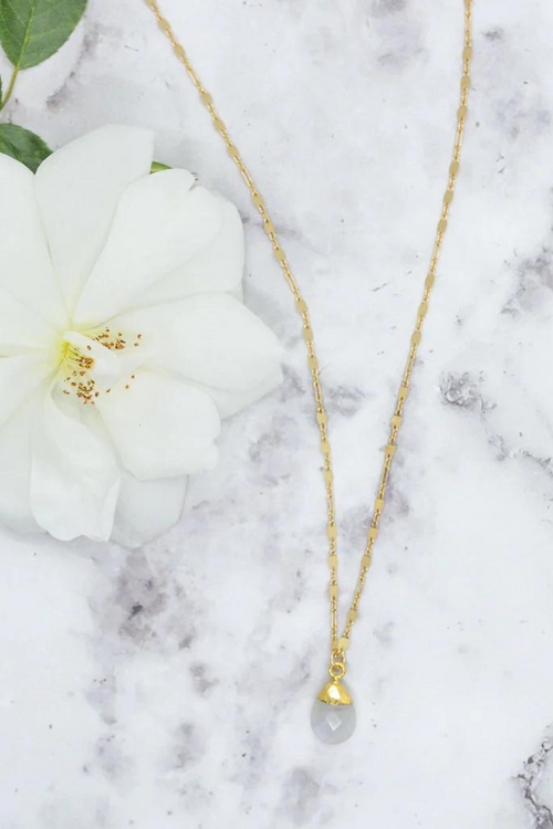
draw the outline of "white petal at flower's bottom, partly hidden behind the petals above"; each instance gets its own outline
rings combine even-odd
[[[124,473],[112,538],[138,547],[168,529],[182,513],[186,478],[138,481]]]

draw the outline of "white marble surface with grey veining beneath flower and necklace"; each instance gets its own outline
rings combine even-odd
[[[312,305],[357,570],[444,188],[462,7],[164,0]],[[1,534],[2,829],[553,827],[550,0],[477,0],[465,164],[351,650],[315,742],[324,494],[298,321],[242,182],[139,0],[91,0],[8,117],[153,126],[240,208],[286,381],[135,552]],[[1,62],[0,62],[1,63]],[[0,70],[4,70],[1,63]]]

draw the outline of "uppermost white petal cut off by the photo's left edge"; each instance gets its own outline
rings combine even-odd
[[[0,286],[43,319],[64,324],[63,303],[34,197],[34,176],[0,155]]]

